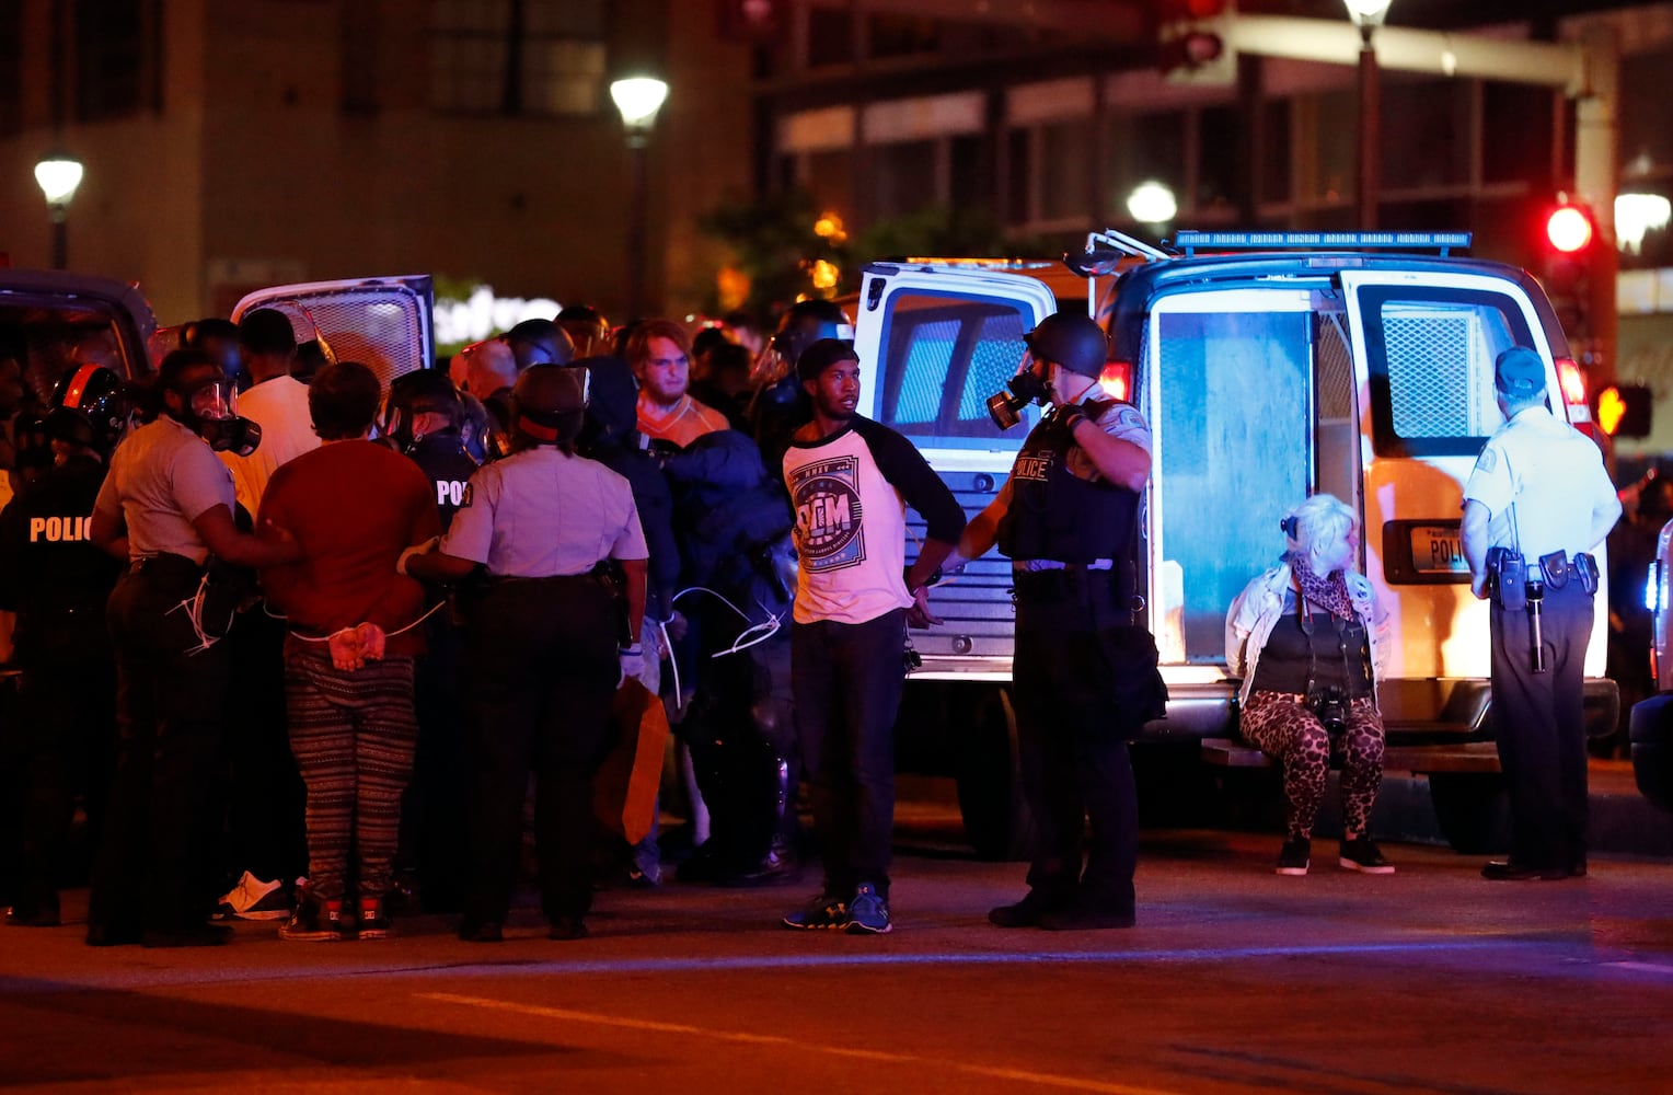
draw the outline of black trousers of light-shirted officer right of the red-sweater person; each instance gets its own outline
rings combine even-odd
[[[504,921],[535,775],[547,919],[592,906],[592,779],[614,742],[616,606],[596,578],[497,581],[467,609],[473,879],[465,914]]]

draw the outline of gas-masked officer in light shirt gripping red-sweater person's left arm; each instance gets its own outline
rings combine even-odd
[[[157,380],[164,414],[110,457],[92,512],[94,542],[127,566],[107,606],[120,738],[94,862],[92,946],[226,941],[204,916],[228,685],[219,636],[233,608],[207,564],[263,568],[301,554],[233,521],[233,474],[216,452],[248,454],[261,437],[238,417],[233,382],[201,350],[169,353]]]

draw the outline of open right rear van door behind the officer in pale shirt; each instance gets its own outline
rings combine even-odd
[[[1522,285],[1491,273],[1345,270],[1340,278],[1369,454],[1365,573],[1397,636],[1389,676],[1487,676],[1487,604],[1469,591],[1459,546],[1464,481],[1504,422],[1492,392],[1501,352],[1537,350],[1553,409],[1569,417],[1546,323]],[[1608,573],[1601,554],[1599,568]],[[1608,613],[1596,613],[1588,676],[1603,676],[1606,623]]]

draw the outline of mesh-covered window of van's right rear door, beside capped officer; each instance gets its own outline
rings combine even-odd
[[[1492,362],[1532,345],[1507,293],[1424,286],[1358,291],[1377,455],[1476,455],[1504,417]]]

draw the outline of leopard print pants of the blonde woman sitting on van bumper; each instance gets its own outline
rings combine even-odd
[[[1330,775],[1330,735],[1298,697],[1256,691],[1243,708],[1243,738],[1283,765],[1288,835],[1312,839],[1318,804]],[[1365,835],[1370,807],[1382,784],[1382,715],[1370,697],[1348,705],[1342,753],[1342,834]]]

